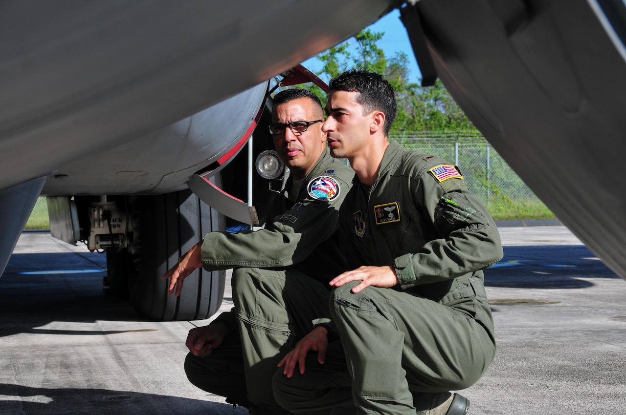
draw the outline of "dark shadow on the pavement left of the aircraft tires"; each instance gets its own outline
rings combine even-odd
[[[103,293],[105,256],[14,254],[0,277],[0,337],[18,333],[108,334],[36,329],[52,321],[146,321],[128,301]]]

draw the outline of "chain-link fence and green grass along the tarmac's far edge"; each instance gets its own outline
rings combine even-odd
[[[429,153],[459,167],[497,220],[553,219],[554,215],[482,136],[473,132],[389,134],[404,148]],[[26,229],[48,229],[48,204],[39,197]]]

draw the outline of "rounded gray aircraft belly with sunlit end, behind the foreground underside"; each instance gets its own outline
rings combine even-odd
[[[184,189],[193,173],[244,138],[264,106],[267,84],[141,138],[78,158],[51,174],[42,194],[156,194]]]

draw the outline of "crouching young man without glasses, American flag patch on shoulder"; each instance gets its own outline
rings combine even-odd
[[[503,256],[495,222],[456,166],[389,143],[396,104],[382,76],[347,71],[329,86],[322,130],[356,178],[339,226],[353,269],[330,282],[354,406],[337,394],[327,406],[464,415],[468,400],[449,391],[478,381],[496,349],[482,271]],[[300,401],[330,396],[327,385],[307,380],[319,365],[306,354],[324,342],[307,336],[280,362],[287,376],[274,377],[275,394],[292,412],[329,413]]]

